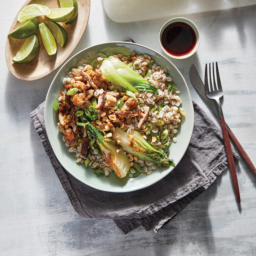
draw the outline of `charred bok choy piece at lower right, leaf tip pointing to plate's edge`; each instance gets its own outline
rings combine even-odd
[[[113,133],[113,139],[117,142],[121,138],[119,145],[127,153],[131,153],[140,159],[147,160],[158,166],[175,166],[172,159],[168,159],[165,153],[150,146],[137,131],[132,131],[131,135],[129,136],[117,127]],[[131,137],[132,140],[130,140]]]

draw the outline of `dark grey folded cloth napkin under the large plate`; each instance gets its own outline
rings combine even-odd
[[[45,131],[44,104],[41,103],[30,116],[74,209],[86,218],[113,219],[125,234],[140,225],[157,232],[228,167],[220,129],[193,103],[193,135],[184,157],[170,174],[154,185],[129,193],[91,188],[69,174],[57,160]],[[237,160],[234,150],[233,155]]]

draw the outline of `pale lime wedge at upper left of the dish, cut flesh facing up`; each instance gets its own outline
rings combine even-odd
[[[36,16],[47,15],[50,13],[51,10],[45,5],[29,4],[18,13],[17,21],[21,23]]]

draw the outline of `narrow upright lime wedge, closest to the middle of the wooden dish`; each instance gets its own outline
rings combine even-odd
[[[51,31],[43,22],[39,24],[39,31],[47,54],[54,55],[57,51],[57,45]]]

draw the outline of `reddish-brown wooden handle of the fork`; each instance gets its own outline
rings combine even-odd
[[[228,130],[227,130],[227,126],[226,126],[224,117],[222,117],[220,119],[220,121],[221,121],[224,145],[225,145],[227,158],[228,158],[228,165],[229,165],[229,169],[231,172],[231,177],[232,177],[234,189],[236,192],[236,197],[237,197],[238,202],[240,202],[241,199],[240,199],[239,186],[238,186],[238,180],[237,180],[237,175],[236,175],[236,167],[235,167],[234,157],[233,157],[231,144],[230,144],[230,140],[229,140],[229,136],[228,136]]]

